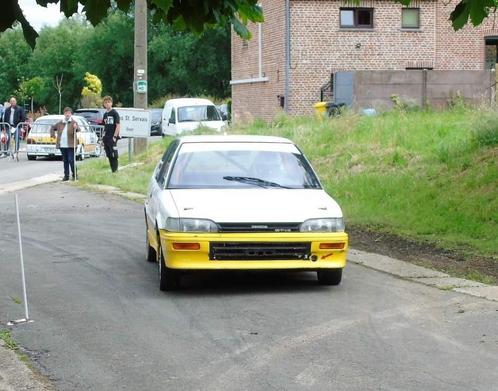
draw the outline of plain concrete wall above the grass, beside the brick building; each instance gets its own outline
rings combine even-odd
[[[353,73],[353,107],[389,109],[392,95],[402,102],[445,107],[459,95],[468,103],[491,102],[495,73],[483,71],[357,71]]]

